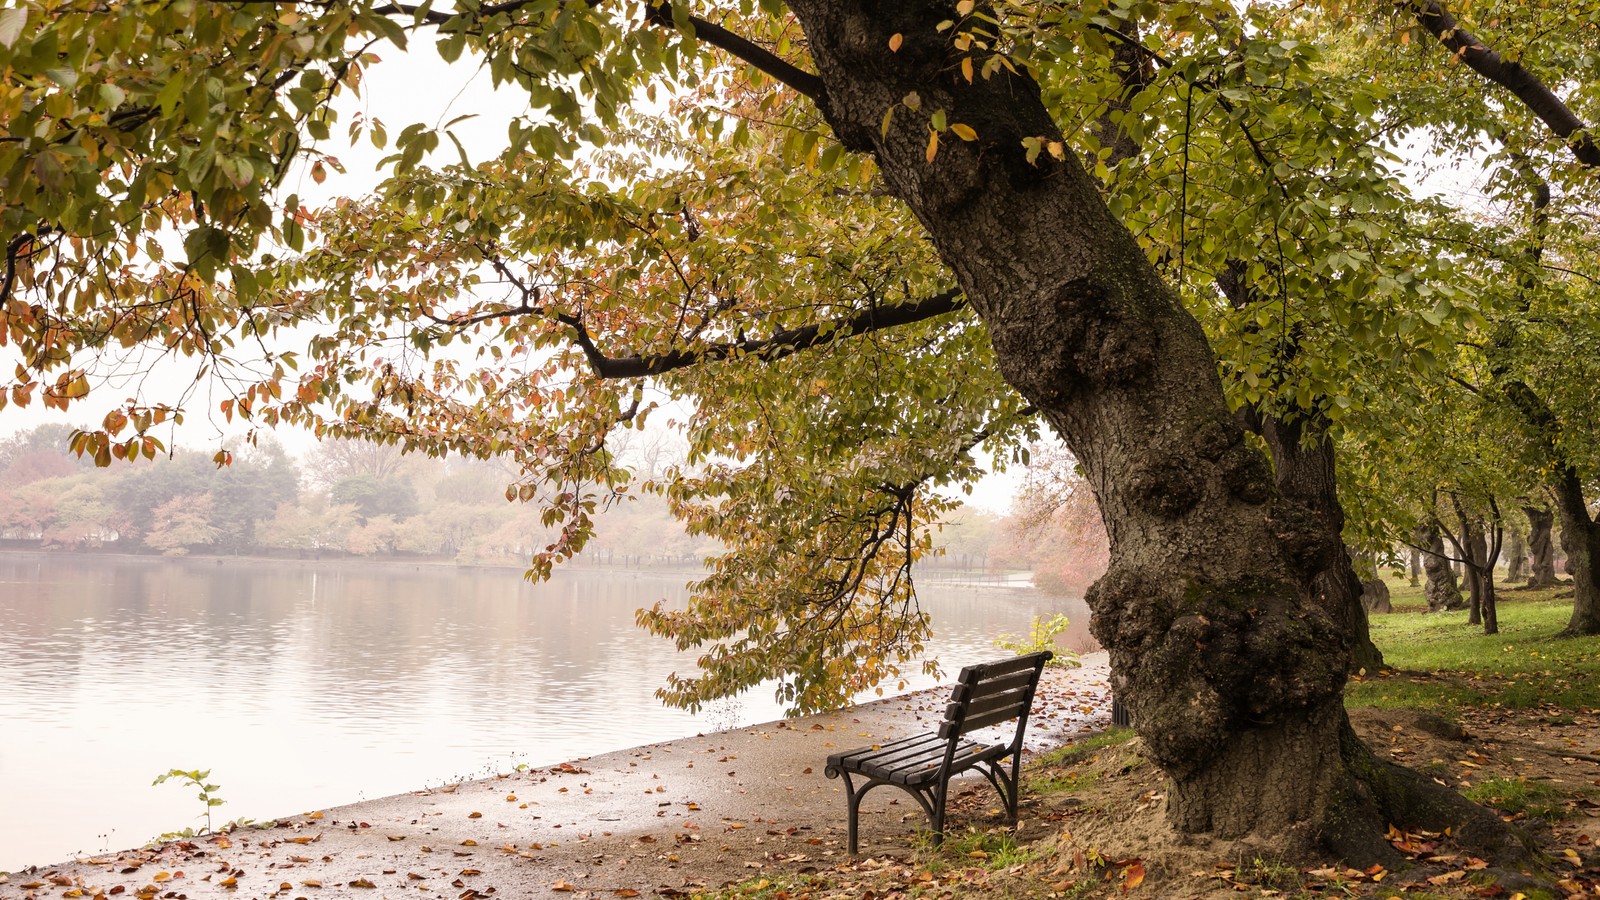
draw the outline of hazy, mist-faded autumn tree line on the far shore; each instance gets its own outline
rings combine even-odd
[[[402,455],[354,440],[296,460],[262,440],[218,466],[213,453],[96,468],[67,450],[72,428],[50,424],[0,440],[0,541],[11,548],[141,554],[426,557],[525,564],[555,540],[534,504],[506,500],[514,474],[494,463]],[[664,466],[656,445],[635,463]],[[688,535],[667,501],[645,493],[613,504],[581,560],[698,565],[717,546]],[[1002,517],[963,508],[944,522],[931,569],[1026,569],[1029,552]],[[1030,538],[1029,538],[1030,540]]]

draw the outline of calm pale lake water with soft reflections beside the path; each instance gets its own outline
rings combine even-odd
[[[0,554],[0,871],[429,785],[771,721],[766,692],[690,716],[653,690],[693,666],[634,626],[688,577],[294,560]],[[928,585],[946,677],[1082,601]],[[930,679],[914,679],[926,687]]]

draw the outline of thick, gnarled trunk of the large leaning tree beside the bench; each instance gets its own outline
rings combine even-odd
[[[1358,583],[1338,528],[1277,488],[1200,325],[1074,154],[1026,159],[1024,138],[1061,139],[1038,85],[1006,70],[962,78],[938,27],[962,19],[954,3],[790,8],[834,133],[877,159],[987,325],[1006,380],[1083,464],[1110,538],[1091,626],[1171,778],[1171,823],[1322,842],[1357,862],[1392,860],[1389,823],[1477,823],[1491,834],[1480,855],[1510,850],[1498,818],[1355,740],[1342,689],[1360,604],[1326,586]],[[922,114],[899,106],[912,91]],[[978,139],[944,141],[930,162],[936,109]]]

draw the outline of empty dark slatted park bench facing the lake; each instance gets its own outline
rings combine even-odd
[[[845,802],[850,810],[850,852],[856,852],[856,814],[861,798],[878,785],[894,785],[917,798],[933,839],[944,839],[944,804],[950,778],[976,769],[1000,791],[1006,817],[1016,823],[1018,775],[1022,765],[1022,730],[1034,705],[1038,676],[1053,657],[1045,650],[1011,660],[966,666],[962,669],[944,722],[934,732],[901,738],[885,745],[862,746],[827,757],[829,778],[845,778]],[[1016,733],[1006,743],[976,743],[966,735],[978,729],[1016,719]],[[1010,759],[1010,767],[1005,761]],[[851,775],[866,783],[856,790]]]

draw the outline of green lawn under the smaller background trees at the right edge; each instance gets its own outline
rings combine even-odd
[[[1571,586],[1499,593],[1499,634],[1467,625],[1467,613],[1427,613],[1421,589],[1392,585],[1395,609],[1371,617],[1373,642],[1398,674],[1352,679],[1352,706],[1600,708],[1600,641],[1557,639],[1573,612]],[[1405,673],[1429,673],[1413,677]]]

